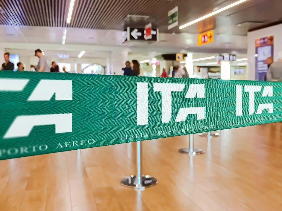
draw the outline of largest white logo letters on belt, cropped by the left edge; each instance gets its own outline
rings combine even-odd
[[[29,79],[0,79],[0,91],[22,91]],[[48,87],[48,89],[46,89]],[[28,101],[72,100],[72,80],[42,79]],[[72,132],[72,113],[17,116],[4,138],[27,137],[34,126],[55,125],[55,133]]]

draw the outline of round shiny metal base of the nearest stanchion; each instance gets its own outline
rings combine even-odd
[[[135,189],[145,189],[147,187],[154,186],[158,183],[157,179],[151,177],[150,175],[145,175],[141,177],[141,186],[137,186],[137,178],[135,175],[131,175],[130,177],[124,178],[120,182],[125,186],[133,187]]]

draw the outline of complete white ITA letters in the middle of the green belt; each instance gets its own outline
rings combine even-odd
[[[154,91],[162,93],[162,123],[171,119],[172,92],[183,91],[185,84],[154,83]],[[204,98],[205,85],[191,84],[185,98]],[[175,122],[186,121],[188,114],[197,114],[197,120],[205,118],[205,107],[180,108]],[[148,125],[148,83],[137,83],[137,125]]]

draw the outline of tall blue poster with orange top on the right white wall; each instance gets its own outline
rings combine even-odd
[[[273,58],[274,36],[256,39],[256,80],[265,81],[268,65],[266,59]]]

